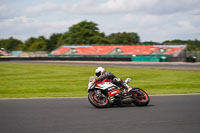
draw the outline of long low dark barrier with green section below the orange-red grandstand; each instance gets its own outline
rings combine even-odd
[[[134,62],[196,62],[194,58],[187,57],[171,57],[171,56],[156,56],[156,55],[73,55],[55,57],[0,57],[0,61],[134,61]]]

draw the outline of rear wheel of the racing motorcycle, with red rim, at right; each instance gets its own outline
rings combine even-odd
[[[131,93],[132,97],[134,98],[133,103],[136,106],[146,106],[149,104],[149,96],[144,90],[140,88],[134,88],[134,91],[132,91]]]

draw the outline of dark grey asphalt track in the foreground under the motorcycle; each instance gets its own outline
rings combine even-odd
[[[96,109],[87,98],[1,99],[1,133],[199,133],[200,95]]]

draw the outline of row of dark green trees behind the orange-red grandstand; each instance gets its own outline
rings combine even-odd
[[[52,51],[61,45],[178,45],[187,44],[188,50],[200,50],[200,40],[167,40],[159,42],[140,42],[140,37],[134,32],[111,33],[106,36],[100,32],[98,24],[81,21],[72,25],[67,32],[54,33],[49,38],[44,36],[30,37],[21,41],[10,37],[0,39],[0,48],[8,51]]]

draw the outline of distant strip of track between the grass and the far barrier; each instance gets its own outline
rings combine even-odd
[[[10,63],[60,64],[77,66],[132,67],[200,71],[200,63],[184,62],[119,62],[119,61],[1,61]],[[0,63],[1,63],[0,62]]]

